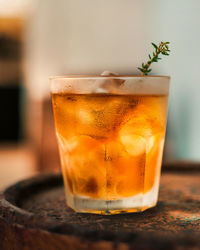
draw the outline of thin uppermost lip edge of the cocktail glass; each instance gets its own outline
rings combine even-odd
[[[170,76],[164,75],[64,75],[64,76],[50,76],[49,80],[64,80],[64,79],[104,79],[104,78],[123,78],[123,79],[131,79],[131,78],[165,78],[171,79]]]

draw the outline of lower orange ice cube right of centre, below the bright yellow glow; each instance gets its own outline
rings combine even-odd
[[[136,138],[134,139],[136,140]],[[141,138],[140,140],[142,141]],[[143,192],[145,147],[142,146],[138,155],[135,154],[136,152],[131,155],[129,146],[127,141],[126,144],[122,144],[117,140],[106,144],[105,164],[107,166],[107,183],[109,183],[107,191],[110,199],[129,197]]]

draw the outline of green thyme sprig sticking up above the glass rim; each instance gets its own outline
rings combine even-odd
[[[169,42],[160,42],[160,44],[157,46],[155,43],[151,43],[155,49],[155,51],[153,52],[153,55],[149,55],[149,61],[144,64],[142,63],[142,67],[138,69],[142,72],[142,75],[148,75],[149,72],[151,72],[152,69],[150,69],[149,67],[151,66],[151,64],[153,62],[158,62],[158,60],[161,60],[161,58],[159,57],[160,54],[164,55],[164,56],[169,56]]]

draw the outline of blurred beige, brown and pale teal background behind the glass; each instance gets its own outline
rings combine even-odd
[[[164,161],[200,160],[199,0],[0,0],[0,189],[59,171],[48,77],[138,74],[171,42]]]

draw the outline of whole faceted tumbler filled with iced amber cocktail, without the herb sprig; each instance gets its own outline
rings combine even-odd
[[[155,206],[169,77],[51,79],[67,204],[116,214]]]

